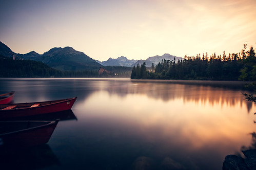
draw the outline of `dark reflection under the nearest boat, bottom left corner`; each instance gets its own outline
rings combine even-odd
[[[61,165],[48,144],[26,149],[4,148],[0,151],[1,169],[40,169]]]

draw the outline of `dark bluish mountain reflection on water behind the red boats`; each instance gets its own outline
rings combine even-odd
[[[0,79],[0,92],[15,89],[15,103],[51,101],[78,96],[85,100],[97,91],[94,81],[76,79]]]

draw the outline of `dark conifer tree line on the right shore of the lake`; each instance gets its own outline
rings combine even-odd
[[[176,79],[176,80],[231,80],[255,81],[256,56],[253,47],[237,54],[212,54],[187,56],[176,61],[164,59],[156,66],[152,63],[150,71],[145,62],[133,66],[131,79]]]

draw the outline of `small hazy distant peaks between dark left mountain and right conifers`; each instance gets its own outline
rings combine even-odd
[[[107,61],[97,61],[100,64],[104,65],[104,66],[126,66],[126,67],[131,67],[135,62],[137,62],[137,60],[128,60],[126,57],[121,56],[118,57],[117,59],[112,59],[109,58]]]

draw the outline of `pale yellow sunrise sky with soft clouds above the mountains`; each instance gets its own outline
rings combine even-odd
[[[105,61],[256,46],[255,0],[1,0],[0,41],[15,53],[71,46]]]

